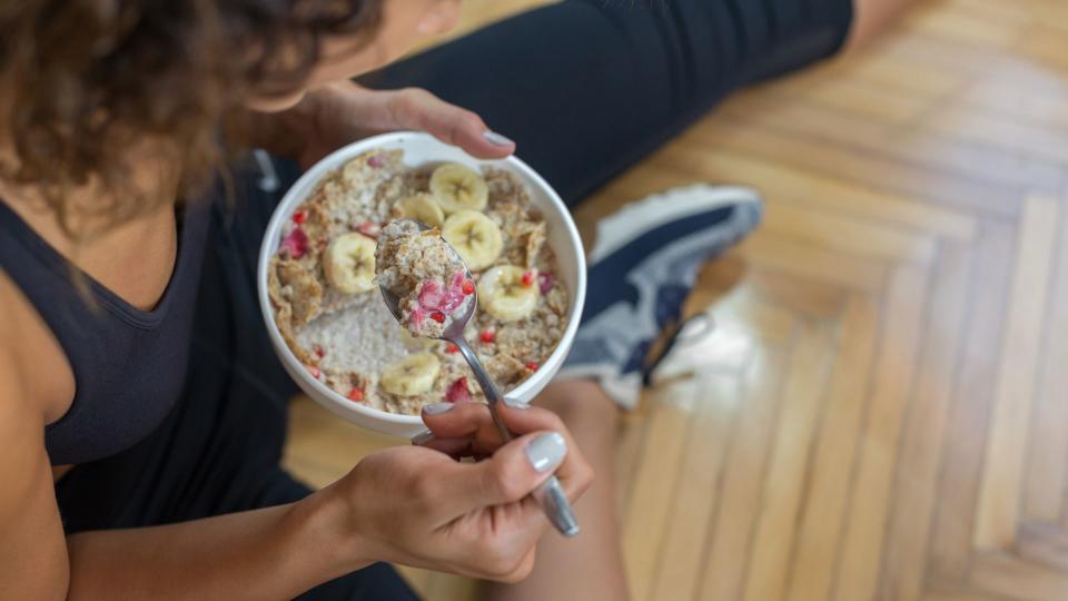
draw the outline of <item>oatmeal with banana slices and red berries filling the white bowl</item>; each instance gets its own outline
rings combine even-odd
[[[409,219],[431,234],[416,235]],[[530,377],[567,325],[546,234],[508,171],[409,168],[399,150],[367,152],[325,177],[283,228],[268,273],[275,323],[308,372],[354,403],[417,414],[443,400],[484,401],[457,349],[423,336],[437,335],[446,309],[477,290],[467,339],[502,390]],[[427,260],[448,246],[473,280],[448,260]],[[406,299],[407,327],[379,283]]]

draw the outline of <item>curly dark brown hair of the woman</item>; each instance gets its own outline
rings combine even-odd
[[[0,179],[33,187],[71,237],[160,206],[135,194],[130,148],[172,141],[191,194],[224,158],[240,100],[298,89],[327,36],[362,43],[383,0],[17,0],[0,2]],[[66,190],[105,191],[72,207]],[[89,210],[91,215],[83,211]],[[75,218],[78,214],[78,219]],[[105,229],[100,227],[99,229]]]

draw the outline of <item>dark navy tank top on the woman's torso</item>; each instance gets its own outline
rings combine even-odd
[[[44,428],[52,465],[87,463],[132,446],[177,403],[189,358],[208,205],[191,203],[181,213],[174,274],[156,308],[145,312],[82,274],[89,303],[71,280],[71,264],[0,200],[0,269],[40,314],[75,373],[73,403]]]

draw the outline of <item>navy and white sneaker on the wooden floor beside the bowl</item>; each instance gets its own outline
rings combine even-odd
[[[637,404],[652,368],[650,347],[679,325],[699,269],[752,231],[762,213],[753,189],[696,185],[602,219],[582,325],[558,377],[597,380],[624,408]]]

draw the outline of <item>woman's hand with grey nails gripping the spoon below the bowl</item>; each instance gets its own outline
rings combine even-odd
[[[531,497],[555,471],[574,502],[593,472],[552,412],[502,407],[518,437],[501,444],[485,405],[456,405],[424,418],[447,431],[477,463],[421,446],[368,455],[324,491],[342,501],[345,530],[364,562],[388,561],[473,578],[516,582],[534,565],[534,548],[550,523]]]

